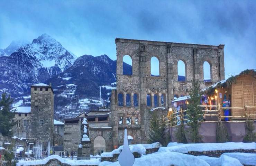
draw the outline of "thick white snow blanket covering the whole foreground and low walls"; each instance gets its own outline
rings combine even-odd
[[[178,144],[170,142],[167,147],[161,147],[158,142],[153,144],[129,145],[131,152],[141,154],[140,158],[135,158],[133,166],[256,166],[256,154],[250,153],[223,153],[220,157],[193,156],[184,154],[190,151],[204,150],[231,150],[231,149],[256,149],[256,143],[226,142],[210,144]],[[160,148],[159,148],[160,147]],[[158,152],[146,155],[146,149],[159,148]],[[112,157],[113,154],[119,154],[122,146],[108,153],[102,153],[101,157]],[[118,162],[100,162],[99,159],[91,160],[69,160],[58,155],[49,156],[43,160],[19,161],[17,166],[28,166],[45,164],[50,159],[58,159],[62,163],[70,165],[99,165],[99,166],[119,166]]]

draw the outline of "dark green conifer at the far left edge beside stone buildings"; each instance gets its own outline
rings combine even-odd
[[[2,94],[2,99],[0,100],[0,132],[3,136],[11,136],[11,128],[15,125],[12,122],[14,111],[10,111],[12,101],[10,95],[6,97],[6,93]]]

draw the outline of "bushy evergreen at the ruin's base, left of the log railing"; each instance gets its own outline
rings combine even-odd
[[[149,143],[160,142],[162,145],[165,144],[164,139],[164,120],[157,116],[157,112],[153,111],[150,118],[150,129],[149,129]]]

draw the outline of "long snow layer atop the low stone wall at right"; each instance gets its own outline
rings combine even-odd
[[[158,151],[176,151],[188,153],[189,151],[211,151],[211,150],[235,150],[235,149],[255,149],[256,142],[225,142],[225,143],[199,143],[183,144],[170,147],[161,147]]]

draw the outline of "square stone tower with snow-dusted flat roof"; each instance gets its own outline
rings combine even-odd
[[[42,143],[43,150],[48,142],[53,145],[54,95],[50,85],[31,85],[31,133],[30,140]]]

